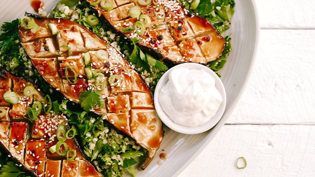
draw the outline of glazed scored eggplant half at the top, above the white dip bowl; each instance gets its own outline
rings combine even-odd
[[[127,38],[141,38],[138,45],[160,60],[206,64],[218,59],[225,48],[226,42],[217,29],[178,0],[87,2]]]

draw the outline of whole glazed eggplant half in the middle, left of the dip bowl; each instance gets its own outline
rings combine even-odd
[[[163,130],[140,75],[121,53],[88,29],[69,20],[28,15],[27,21],[38,27],[20,25],[21,44],[39,74],[67,99],[103,116],[146,149],[139,165],[144,170],[160,146]]]

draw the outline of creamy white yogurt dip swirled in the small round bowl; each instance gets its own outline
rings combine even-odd
[[[215,79],[203,69],[174,68],[161,88],[158,102],[175,123],[196,127],[217,113],[222,96]]]

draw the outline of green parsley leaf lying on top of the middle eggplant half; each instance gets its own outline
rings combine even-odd
[[[88,91],[82,91],[80,93],[79,100],[81,101],[81,107],[86,112],[94,109],[95,104],[97,104],[100,108],[105,108],[104,98],[100,92],[96,90],[91,89]]]

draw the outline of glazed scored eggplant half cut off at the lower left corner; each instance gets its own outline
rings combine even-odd
[[[75,159],[67,160],[65,155],[50,151],[58,143],[57,127],[67,124],[67,118],[54,111],[44,113],[38,103],[43,105],[45,97],[35,86],[0,68],[0,93],[0,146],[19,167],[38,177],[102,177],[84,158],[74,139],[66,140],[63,148],[74,149]],[[35,105],[38,115],[30,121],[29,108]]]

